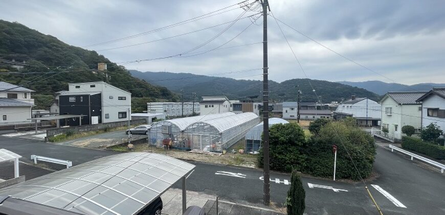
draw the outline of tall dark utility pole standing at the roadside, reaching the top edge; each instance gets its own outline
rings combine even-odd
[[[263,6],[263,166],[264,205],[271,202],[269,169],[269,89],[268,89],[268,0],[261,0]],[[269,9],[270,10],[270,9]]]

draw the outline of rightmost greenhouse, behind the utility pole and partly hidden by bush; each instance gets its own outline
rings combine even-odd
[[[284,119],[281,118],[270,118],[269,119],[269,127],[273,124],[285,124],[289,123]],[[261,134],[263,133],[263,123],[259,123],[255,127],[253,127],[247,134],[246,134],[246,153],[255,153],[258,152],[259,148],[261,147]]]

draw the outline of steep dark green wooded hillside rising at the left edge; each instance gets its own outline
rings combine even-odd
[[[167,88],[132,77],[124,67],[95,51],[70,46],[19,23],[0,20],[0,59],[26,60],[29,66],[20,71],[0,63],[0,81],[25,84],[24,87],[35,90],[35,94],[68,90],[71,82],[107,81],[131,92],[133,97],[146,97],[145,100],[150,101],[177,99]],[[98,62],[107,63],[108,80],[105,72],[97,71]]]

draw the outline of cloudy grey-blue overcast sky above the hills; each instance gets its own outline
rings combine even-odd
[[[238,1],[0,0],[0,3],[0,19],[19,22],[73,46],[86,47],[182,22]],[[273,14],[287,25],[381,74],[361,68],[280,24],[308,78],[328,81],[394,80],[405,84],[445,82],[445,1],[280,0],[270,4]],[[243,11],[234,6],[195,22],[86,49],[96,50],[118,63],[172,56],[217,36]],[[243,17],[255,13],[258,11],[247,11]],[[219,47],[252,22],[250,18],[241,18],[205,46],[182,56]],[[272,16],[268,17],[268,25],[270,79],[281,82],[304,78]],[[205,28],[209,29],[201,30]],[[192,31],[197,32],[176,36]],[[176,37],[119,48],[172,36]],[[262,17],[221,47],[227,49],[123,65],[139,71],[219,74],[260,80],[261,71],[252,69],[262,67],[262,45],[241,45],[261,41]]]

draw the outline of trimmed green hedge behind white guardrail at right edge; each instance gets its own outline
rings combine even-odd
[[[413,137],[402,137],[402,147],[434,159],[445,160],[445,147]]]

